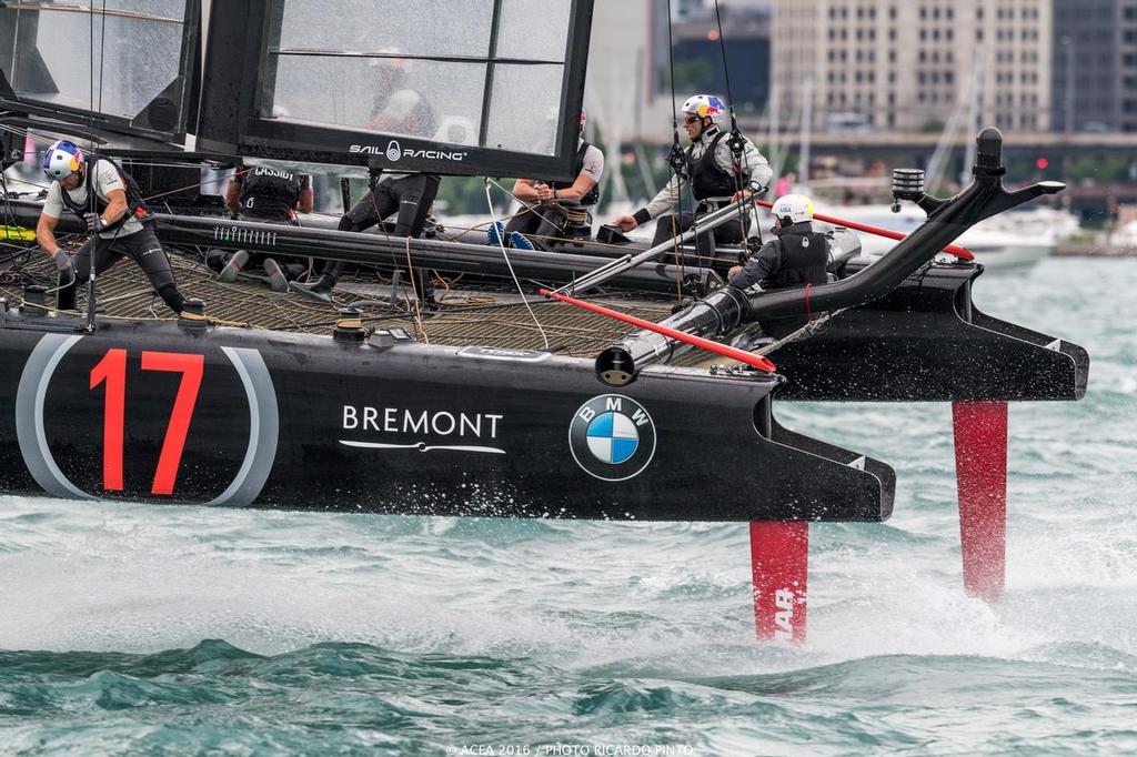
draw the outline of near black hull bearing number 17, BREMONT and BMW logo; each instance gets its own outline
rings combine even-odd
[[[777,377],[659,368],[615,394],[586,360],[385,332],[350,343],[169,322],[106,322],[93,334],[77,325],[3,315],[0,490],[644,521],[891,511],[888,466],[773,421]],[[606,411],[636,429],[626,460],[605,451],[621,459],[603,461],[586,435]]]

